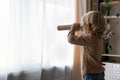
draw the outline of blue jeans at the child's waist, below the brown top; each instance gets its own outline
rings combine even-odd
[[[105,80],[104,79],[104,72],[100,74],[84,74],[84,80]]]

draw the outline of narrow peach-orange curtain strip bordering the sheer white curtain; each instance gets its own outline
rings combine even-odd
[[[80,22],[80,1],[75,0],[75,22]],[[79,35],[79,32],[76,33]],[[72,69],[72,80],[81,80],[81,58],[80,58],[80,46],[74,46],[74,59]]]

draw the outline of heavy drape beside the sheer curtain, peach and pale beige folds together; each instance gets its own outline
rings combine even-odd
[[[76,3],[76,14],[75,22],[80,22],[81,17],[87,12],[87,0],[75,0]],[[79,36],[79,32],[76,33]],[[72,69],[72,80],[82,80],[82,54],[83,47],[75,45],[74,47],[74,60],[73,60],[73,69]]]

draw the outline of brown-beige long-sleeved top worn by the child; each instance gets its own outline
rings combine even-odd
[[[94,35],[86,34],[79,37],[75,36],[75,31],[70,30],[68,41],[71,44],[81,45],[84,48],[82,72],[83,74],[97,74],[104,72],[101,57],[103,53],[103,39]]]

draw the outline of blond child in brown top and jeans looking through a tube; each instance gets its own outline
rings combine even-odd
[[[74,23],[68,33],[68,42],[84,48],[82,72],[84,80],[104,80],[104,67],[101,57],[103,53],[103,36],[107,29],[104,16],[98,11],[86,13],[81,24]],[[83,34],[76,36],[75,32]]]

